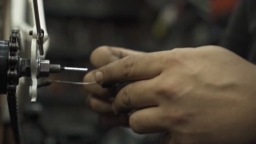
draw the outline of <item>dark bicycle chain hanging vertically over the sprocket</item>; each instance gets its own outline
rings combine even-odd
[[[19,61],[20,61],[20,31],[13,29],[10,33],[9,57],[7,70],[7,103],[10,113],[10,121],[13,127],[14,139],[20,143],[18,105],[16,98],[16,87],[19,85]]]

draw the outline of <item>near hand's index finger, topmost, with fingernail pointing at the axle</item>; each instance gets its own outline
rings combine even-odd
[[[100,84],[111,85],[116,82],[152,79],[164,68],[162,53],[143,53],[109,63],[97,70],[95,80]]]

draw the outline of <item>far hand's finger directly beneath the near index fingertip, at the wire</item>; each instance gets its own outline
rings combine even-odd
[[[84,82],[95,82],[94,71],[90,71],[84,76]],[[84,85],[84,88],[87,92],[93,94],[97,98],[108,99],[114,96],[109,89],[102,88],[100,85]]]

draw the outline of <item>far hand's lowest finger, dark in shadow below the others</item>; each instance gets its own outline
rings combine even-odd
[[[129,125],[129,117],[127,115],[101,115],[98,117],[99,123],[103,127],[118,127],[124,126],[127,127]]]

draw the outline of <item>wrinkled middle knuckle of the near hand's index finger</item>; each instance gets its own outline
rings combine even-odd
[[[123,65],[123,76],[125,77],[130,77],[132,74],[132,69],[135,64],[135,56],[128,56],[124,60],[124,65]]]

